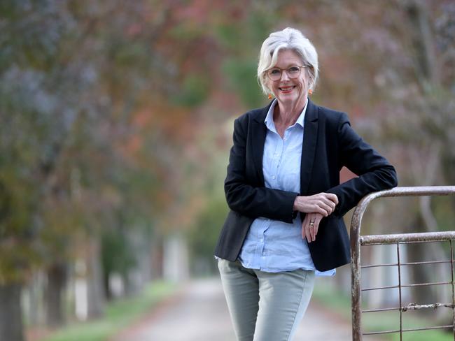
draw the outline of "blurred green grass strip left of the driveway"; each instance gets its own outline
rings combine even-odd
[[[153,282],[142,293],[106,306],[103,318],[66,326],[41,341],[104,341],[109,340],[134,321],[140,319],[153,305],[176,291],[176,285]]]

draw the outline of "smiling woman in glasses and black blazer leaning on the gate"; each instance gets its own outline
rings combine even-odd
[[[297,29],[274,32],[262,44],[258,80],[275,99],[235,120],[230,212],[215,255],[237,340],[291,340],[315,273],[350,261],[343,215],[397,184],[346,114],[308,99],[317,79],[310,41]],[[342,166],[358,177],[339,184]]]

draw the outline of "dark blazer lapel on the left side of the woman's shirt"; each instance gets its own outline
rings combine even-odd
[[[262,186],[265,186],[264,173],[262,172],[262,157],[264,154],[265,136],[267,135],[267,126],[264,121],[272,102],[273,101],[265,108],[262,108],[260,114],[253,119],[253,126],[251,129],[253,134],[253,161],[256,174],[258,175],[258,179]]]

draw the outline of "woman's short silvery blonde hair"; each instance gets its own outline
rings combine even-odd
[[[260,48],[258,63],[258,82],[265,94],[270,94],[271,90],[267,85],[267,70],[276,65],[278,53],[281,50],[293,50],[302,58],[303,65],[309,80],[308,88],[314,90],[318,80],[318,53],[311,41],[306,38],[301,31],[286,27],[282,31],[272,32]]]

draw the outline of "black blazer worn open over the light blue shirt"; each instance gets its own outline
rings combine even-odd
[[[345,113],[316,106],[308,100],[304,117],[300,194],[265,187],[262,174],[265,117],[272,103],[251,110],[234,123],[225,194],[230,208],[215,255],[235,261],[246,233],[257,217],[292,223],[295,197],[321,192],[338,197],[335,211],[321,220],[309,252],[320,271],[351,261],[349,236],[343,215],[372,191],[397,185],[395,168],[365,143],[351,128]],[[339,170],[346,166],[358,177],[339,184]],[[304,213],[302,213],[302,219]]]

